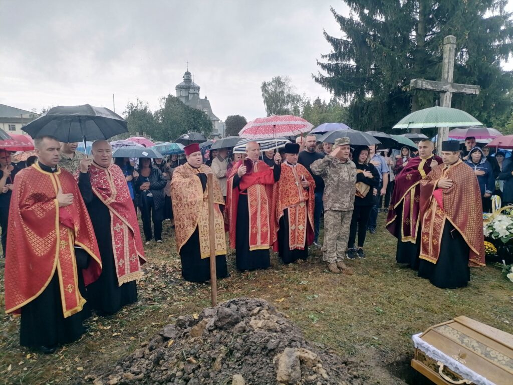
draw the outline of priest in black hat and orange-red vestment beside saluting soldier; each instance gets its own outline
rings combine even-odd
[[[314,236],[315,182],[306,167],[298,163],[299,148],[297,143],[285,145],[280,180],[272,191],[273,249],[285,264],[303,263]]]

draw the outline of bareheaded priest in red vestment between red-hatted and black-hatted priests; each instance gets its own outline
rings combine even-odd
[[[227,180],[226,218],[231,247],[241,271],[270,266],[273,221],[270,220],[272,185],[280,179],[281,156],[274,155],[274,167],[260,158],[260,145],[246,145],[247,158],[235,163]]]

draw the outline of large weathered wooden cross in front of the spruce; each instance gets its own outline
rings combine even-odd
[[[442,58],[442,80],[440,82],[424,79],[412,79],[410,89],[423,89],[437,91],[440,94],[440,106],[450,107],[453,93],[478,95],[480,87],[469,84],[452,83],[454,79],[454,56],[456,52],[456,36],[448,35],[444,38],[444,52]],[[438,127],[438,143],[446,141],[449,134],[448,127]],[[440,146],[438,147],[440,149]]]

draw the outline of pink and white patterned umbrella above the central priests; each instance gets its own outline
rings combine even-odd
[[[313,124],[303,118],[293,115],[273,115],[248,122],[239,131],[239,136],[252,139],[295,137],[304,132],[310,132],[312,128]]]

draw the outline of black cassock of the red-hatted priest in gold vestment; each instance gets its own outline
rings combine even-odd
[[[203,191],[205,192],[207,176],[203,172],[197,175],[201,180]],[[219,207],[222,212],[223,206]],[[210,258],[201,258],[198,226],[196,226],[194,233],[192,233],[191,237],[180,249],[180,259],[182,261],[182,277],[186,281],[205,282],[210,279]],[[219,279],[228,276],[226,255],[215,256],[215,273],[216,277]]]

